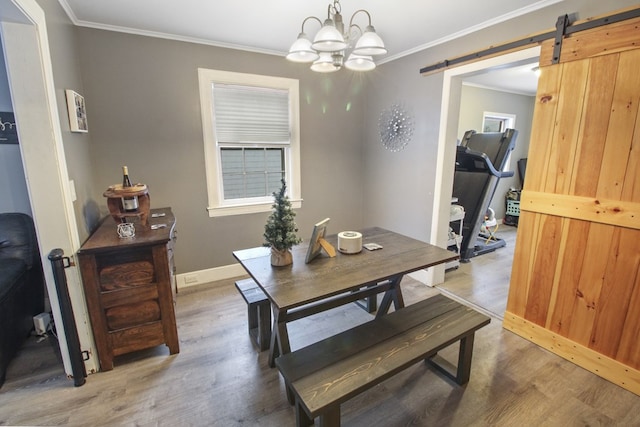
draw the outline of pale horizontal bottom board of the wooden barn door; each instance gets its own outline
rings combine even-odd
[[[640,395],[640,371],[560,336],[513,313],[505,312],[503,328],[594,374]]]

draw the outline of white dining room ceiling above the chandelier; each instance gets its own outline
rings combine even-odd
[[[345,24],[360,8],[388,53],[378,64],[444,43],[562,0],[342,0]],[[327,17],[329,0],[59,0],[74,24],[234,49],[285,55],[307,16]],[[460,13],[464,11],[464,13]],[[366,26],[366,15],[355,16]],[[319,24],[309,21],[313,37]],[[446,58],[443,58],[446,59]],[[504,72],[504,71],[503,71]],[[478,83],[485,86],[495,82]],[[498,81],[512,81],[504,76]],[[521,88],[519,90],[531,90]],[[535,93],[535,89],[534,89]]]

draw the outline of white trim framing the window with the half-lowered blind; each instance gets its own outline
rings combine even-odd
[[[200,87],[200,108],[202,112],[202,135],[204,138],[204,158],[207,178],[208,206],[210,217],[239,215],[258,212],[269,212],[273,198],[241,202],[225,201],[222,190],[221,165],[216,145],[213,122],[212,84],[226,83],[245,86],[271,87],[289,91],[291,106],[291,142],[287,150],[285,176],[291,205],[302,207],[302,191],[300,185],[300,88],[298,80],[284,77],[261,76],[258,74],[234,73],[229,71],[198,68]]]

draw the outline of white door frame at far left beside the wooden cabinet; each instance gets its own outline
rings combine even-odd
[[[0,0],[0,31],[31,210],[46,288],[65,372],[71,362],[54,274],[48,254],[60,248],[71,265],[65,270],[81,349],[96,354],[84,302],[82,281],[73,256],[80,248],[71,187],[58,114],[53,67],[44,11],[35,0]],[[28,123],[28,126],[21,126]],[[96,372],[95,357],[86,358]]]

